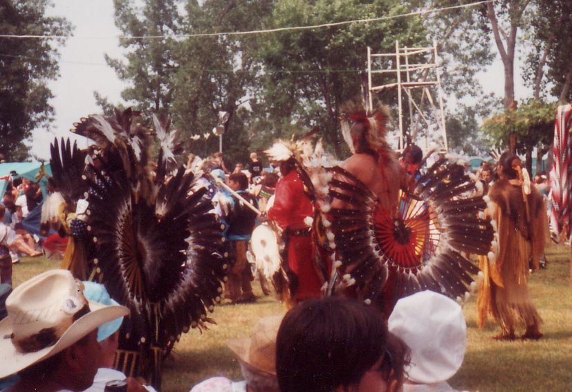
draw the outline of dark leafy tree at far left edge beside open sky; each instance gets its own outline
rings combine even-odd
[[[62,38],[0,39],[0,152],[8,161],[28,159],[31,130],[49,128],[53,97],[48,81],[58,76],[57,47],[71,33],[61,17],[45,15],[48,0],[1,0],[0,34]]]

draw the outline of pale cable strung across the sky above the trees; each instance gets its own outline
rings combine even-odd
[[[250,30],[250,31],[235,31],[235,32],[225,32],[225,33],[198,33],[198,34],[181,34],[181,35],[141,35],[141,36],[129,36],[129,35],[119,35],[118,39],[181,39],[181,38],[199,38],[199,37],[223,37],[223,36],[233,36],[233,35],[253,35],[253,34],[266,34],[266,33],[278,33],[282,31],[295,31],[295,30],[311,30],[314,28],[324,28],[324,27],[335,27],[344,26],[347,24],[354,23],[369,23],[372,21],[383,21],[389,19],[397,19],[401,17],[410,17],[414,15],[427,15],[435,12],[456,10],[459,8],[469,8],[474,6],[480,6],[481,4],[494,3],[496,0],[486,0],[477,1],[476,3],[463,4],[460,6],[450,6],[443,8],[434,8],[432,10],[421,10],[415,12],[407,12],[400,15],[391,15],[386,17],[377,17],[369,19],[355,19],[350,21],[338,21],[326,24],[315,24],[313,26],[293,26],[293,27],[279,27],[270,28],[266,30]],[[58,38],[71,38],[73,35],[0,35],[0,38],[17,38],[17,39],[58,39]],[[76,37],[81,39],[109,39],[110,37]]]

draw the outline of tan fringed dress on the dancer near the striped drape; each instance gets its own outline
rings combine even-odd
[[[547,215],[542,195],[533,187],[524,202],[518,180],[501,179],[488,193],[492,202],[490,217],[497,222],[499,252],[496,261],[479,260],[484,279],[478,298],[479,328],[486,323],[487,314],[497,320],[502,335],[513,335],[515,327],[538,331],[542,323],[528,294],[528,269],[539,268],[544,253]],[[528,209],[528,213],[527,213]]]

